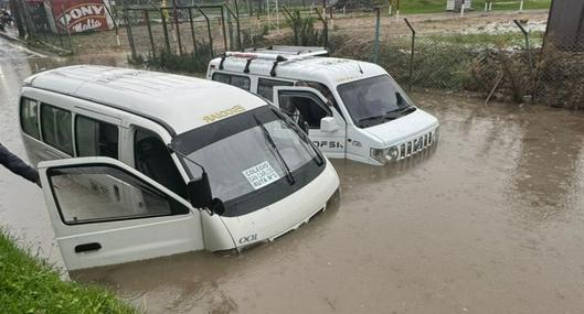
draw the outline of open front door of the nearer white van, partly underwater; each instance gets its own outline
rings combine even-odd
[[[204,248],[201,212],[123,162],[47,161],[39,174],[68,270]]]

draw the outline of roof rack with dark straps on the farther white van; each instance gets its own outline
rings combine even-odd
[[[276,67],[280,62],[296,61],[310,56],[327,56],[329,52],[325,47],[317,46],[284,46],[273,45],[267,48],[252,48],[244,52],[225,52],[221,57],[219,69],[223,69],[223,62],[226,57],[241,57],[246,58],[244,73],[249,73],[249,64],[254,59],[266,59],[273,61],[274,65],[269,72],[270,76],[276,76]]]

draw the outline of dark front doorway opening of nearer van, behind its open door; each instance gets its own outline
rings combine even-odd
[[[167,145],[147,130],[138,129],[134,134],[136,169],[180,196],[187,196],[187,184],[182,180]]]

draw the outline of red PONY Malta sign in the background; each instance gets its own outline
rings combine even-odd
[[[109,15],[102,0],[52,0],[60,33],[109,30]]]

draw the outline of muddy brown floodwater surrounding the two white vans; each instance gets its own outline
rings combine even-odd
[[[0,141],[20,155],[18,88],[54,64],[0,54]],[[341,198],[298,230],[71,277],[147,313],[584,313],[584,113],[413,96],[438,147],[384,167],[333,161]],[[0,219],[62,264],[41,191],[3,169]]]

